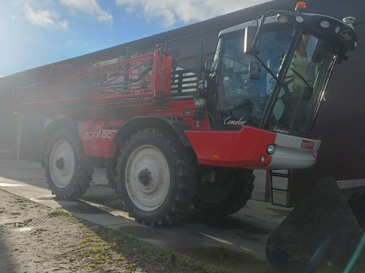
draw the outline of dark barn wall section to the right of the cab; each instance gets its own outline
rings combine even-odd
[[[293,172],[293,200],[299,200],[319,178],[365,179],[365,23],[356,27],[358,48],[335,67],[326,103],[321,106],[313,136],[322,140],[317,163]]]

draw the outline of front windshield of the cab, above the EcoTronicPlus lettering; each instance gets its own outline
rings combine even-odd
[[[329,44],[315,36],[301,35],[270,117],[270,130],[308,135],[331,58]]]

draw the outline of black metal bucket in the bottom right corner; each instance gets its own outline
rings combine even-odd
[[[336,180],[323,178],[270,235],[266,258],[272,272],[346,272],[362,235]],[[357,250],[347,272],[365,270],[365,251]]]

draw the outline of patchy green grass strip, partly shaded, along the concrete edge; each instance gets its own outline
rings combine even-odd
[[[92,223],[79,219],[86,227]],[[90,236],[80,242],[66,247],[68,251],[64,257],[70,262],[76,262],[73,268],[102,270],[115,268],[124,273],[135,272],[138,267],[149,268],[150,272],[166,271],[170,273],[228,273],[231,270],[207,265],[191,258],[175,253],[160,246],[140,241],[128,234],[103,226],[97,226],[90,231]],[[118,271],[119,272],[119,271]]]

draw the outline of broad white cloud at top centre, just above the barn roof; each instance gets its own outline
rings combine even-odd
[[[76,1],[76,0],[75,0]],[[269,0],[164,0],[157,4],[151,0],[115,0],[127,12],[143,13],[147,19],[162,19],[165,26],[173,26],[178,21],[193,23],[239,9],[251,7]]]

